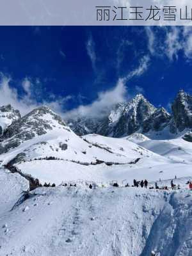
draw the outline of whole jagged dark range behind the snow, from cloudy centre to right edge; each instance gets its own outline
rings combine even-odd
[[[130,102],[116,104],[109,115],[102,118],[78,116],[67,120],[71,129],[79,135],[97,133],[121,138],[134,132],[154,137],[174,134],[192,128],[192,97],[180,90],[172,104],[172,114],[164,108],[155,108],[143,95],[138,94]]]

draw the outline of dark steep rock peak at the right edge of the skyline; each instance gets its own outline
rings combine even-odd
[[[192,128],[192,96],[181,90],[172,104],[175,127],[179,132]]]

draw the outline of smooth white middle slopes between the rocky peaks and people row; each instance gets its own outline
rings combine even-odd
[[[132,184],[133,179],[172,179],[191,176],[190,155],[184,152],[188,161],[183,162],[177,157],[168,157],[161,152],[161,143],[158,141],[157,152],[147,150],[129,140],[108,138],[97,134],[79,138],[74,132],[63,131],[54,134],[49,132],[34,138],[33,145],[19,146],[15,150],[1,155],[3,163],[13,158],[19,152],[24,152],[24,159],[15,166],[23,173],[31,174],[40,182],[61,184],[64,180],[93,180],[108,184],[111,180],[127,180]],[[67,132],[67,133],[66,133]],[[52,134],[52,136],[51,136]],[[57,136],[56,136],[57,134]],[[34,141],[35,140],[35,141]],[[38,140],[38,143],[37,143]],[[67,150],[59,147],[61,141],[67,140]],[[43,141],[46,141],[46,143]],[[182,140],[184,141],[184,140]],[[150,140],[145,141],[145,143]],[[184,141],[188,145],[187,141]],[[175,146],[174,146],[175,147]],[[182,150],[176,152],[182,152]],[[164,145],[162,146],[164,149]],[[86,152],[86,154],[84,154]],[[190,152],[190,145],[189,145]],[[58,160],[47,160],[45,157],[58,157]],[[40,159],[38,157],[41,157]],[[134,161],[138,159],[136,163]],[[97,163],[97,160],[105,163]],[[106,164],[110,163],[110,164]],[[114,163],[114,164],[113,164]],[[112,165],[111,165],[112,164]],[[182,170],[182,172],[180,172]]]

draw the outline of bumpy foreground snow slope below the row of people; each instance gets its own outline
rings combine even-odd
[[[191,207],[185,190],[39,188],[0,216],[0,253],[190,256]]]

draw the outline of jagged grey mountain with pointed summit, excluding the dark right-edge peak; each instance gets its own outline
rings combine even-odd
[[[156,111],[143,95],[138,94],[131,102],[116,104],[104,118],[78,117],[69,120],[70,127],[77,134],[97,133],[104,136],[123,137],[143,127],[143,123]],[[91,121],[90,121],[91,120]]]

